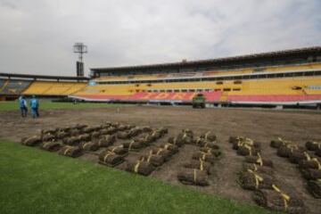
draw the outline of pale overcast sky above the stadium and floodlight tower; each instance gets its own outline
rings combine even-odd
[[[75,75],[321,45],[320,0],[0,0],[0,72]]]

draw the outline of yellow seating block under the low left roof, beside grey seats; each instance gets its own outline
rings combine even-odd
[[[71,95],[86,87],[86,83],[34,81],[24,95]]]

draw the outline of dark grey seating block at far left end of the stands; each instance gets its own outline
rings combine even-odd
[[[1,94],[4,95],[21,95],[21,93],[30,85],[30,80],[6,80],[1,88]]]

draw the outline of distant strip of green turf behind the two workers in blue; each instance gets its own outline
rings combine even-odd
[[[40,101],[40,110],[51,109],[86,109],[86,108],[103,108],[119,106],[119,104],[111,103],[53,103],[50,101]],[[17,102],[0,102],[0,111],[16,111],[19,110],[19,103]]]

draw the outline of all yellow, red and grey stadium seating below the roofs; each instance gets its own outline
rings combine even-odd
[[[127,71],[120,70],[119,74],[113,72],[116,74],[115,76],[102,76],[92,79],[93,81],[91,80],[89,83],[70,81],[70,78],[64,81],[0,79],[0,94],[70,95],[91,101],[188,103],[192,101],[194,95],[202,93],[210,103],[309,101],[321,103],[321,63],[295,63],[283,66],[280,66],[280,63],[278,66],[263,66],[265,64],[261,64],[260,67],[246,67],[247,64],[244,64],[244,67],[234,66],[237,69],[223,68],[220,70],[190,68],[185,72],[177,72],[179,70],[173,69],[176,72],[172,73],[168,73],[168,70],[164,69],[162,70],[164,73],[158,74],[141,74],[142,71],[138,70],[139,74],[137,75],[131,74],[135,71],[128,68]],[[151,72],[155,72],[155,70]],[[271,72],[277,73],[271,74]],[[111,73],[98,74],[110,75]],[[244,76],[242,77],[242,75]],[[205,76],[210,76],[210,78],[204,78]]]

